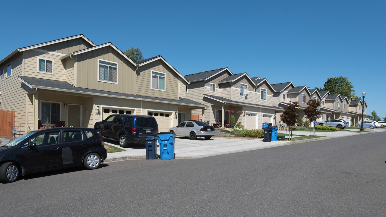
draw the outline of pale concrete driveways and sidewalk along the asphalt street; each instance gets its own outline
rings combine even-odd
[[[372,132],[386,132],[386,129],[372,129]],[[349,131],[358,131],[351,130]],[[316,136],[325,136],[320,139],[330,139],[334,137],[354,136],[358,133],[349,131],[339,132],[315,132]],[[285,134],[286,131],[279,131]],[[371,133],[371,132],[363,132]],[[361,134],[363,134],[361,133]],[[296,136],[309,136],[310,132],[306,131],[294,131],[293,134]],[[198,138],[197,140],[190,140],[184,137],[176,137],[175,150],[176,158],[204,158],[208,156],[229,154],[242,151],[250,151],[268,147],[283,146],[288,144],[296,144],[301,142],[315,141],[315,139],[306,139],[298,141],[274,141],[274,142],[263,142],[262,138],[257,139],[223,139],[223,138],[212,138],[206,140]],[[118,142],[109,139],[104,139],[105,144],[119,147],[125,151],[108,153],[105,162],[122,161],[128,159],[146,159],[146,147],[145,144],[135,144],[129,148],[122,148],[118,145]],[[159,147],[157,147],[157,154],[159,154]]]

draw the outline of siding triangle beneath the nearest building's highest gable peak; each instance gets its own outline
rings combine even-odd
[[[68,41],[63,41],[63,42],[39,47],[39,49],[58,52],[62,54],[69,54],[71,52],[80,51],[90,47],[93,47],[93,46],[87,41],[85,41],[85,39],[77,38],[77,39],[72,39]]]

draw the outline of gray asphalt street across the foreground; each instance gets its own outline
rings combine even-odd
[[[384,217],[385,136],[27,175],[0,184],[1,215]]]

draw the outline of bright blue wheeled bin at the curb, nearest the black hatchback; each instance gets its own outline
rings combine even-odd
[[[159,143],[159,158],[174,159],[174,143],[176,142],[176,134],[170,132],[160,132],[157,134]]]

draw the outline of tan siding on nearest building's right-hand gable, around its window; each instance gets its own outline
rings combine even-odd
[[[151,89],[151,71],[165,73],[165,90]],[[153,61],[138,68],[135,94],[178,100],[178,78],[177,73],[162,60]]]

